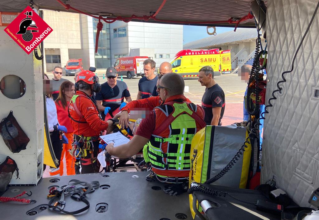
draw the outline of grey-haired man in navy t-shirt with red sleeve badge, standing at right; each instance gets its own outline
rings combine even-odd
[[[210,66],[202,67],[198,73],[198,81],[206,86],[202,98],[206,125],[221,125],[225,111],[225,93],[215,82],[213,69]]]

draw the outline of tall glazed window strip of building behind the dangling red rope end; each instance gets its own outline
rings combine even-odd
[[[99,19],[93,18],[93,32],[96,32]],[[96,34],[93,34],[95,47]],[[103,24],[100,31],[98,52],[94,53],[95,67],[97,69],[106,69],[111,66],[111,42],[110,42],[110,24]]]

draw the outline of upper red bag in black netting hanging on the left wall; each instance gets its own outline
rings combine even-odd
[[[10,111],[8,117],[1,121],[0,134],[12,153],[19,153],[21,150],[25,150],[30,141],[13,116],[12,111]]]

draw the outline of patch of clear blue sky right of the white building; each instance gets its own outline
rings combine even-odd
[[[210,28],[209,31],[212,32],[214,29]],[[226,31],[234,31],[234,28],[228,27],[216,27],[216,33],[220,34]],[[212,35],[207,34],[206,26],[190,26],[184,25],[183,30],[183,44],[187,44],[194,40],[199,40],[202,38],[207,38]]]

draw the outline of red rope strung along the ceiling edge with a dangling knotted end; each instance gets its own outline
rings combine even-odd
[[[97,53],[97,48],[98,48],[98,41],[99,41],[99,35],[100,35],[100,31],[103,28],[103,24],[101,22],[101,20],[105,21],[108,24],[111,24],[115,21],[124,21],[126,23],[130,22],[131,20],[135,19],[135,20],[144,20],[144,21],[148,21],[150,19],[154,20],[154,21],[159,21],[159,22],[165,22],[165,23],[174,23],[174,24],[223,24],[223,23],[228,23],[228,24],[236,24],[234,31],[236,31],[239,23],[252,19],[254,17],[254,15],[252,14],[252,12],[249,12],[248,15],[242,17],[241,19],[235,19],[233,17],[229,18],[228,20],[225,21],[173,21],[173,20],[165,20],[165,19],[158,19],[156,18],[156,15],[159,13],[159,11],[164,7],[164,4],[166,3],[167,0],[163,0],[162,4],[159,6],[158,10],[150,16],[136,16],[136,15],[131,15],[131,17],[122,17],[122,16],[117,16],[114,19],[108,19],[108,18],[103,18],[102,16],[94,16],[91,14],[88,14],[84,11],[78,10],[76,8],[73,8],[72,6],[70,6],[70,4],[65,4],[63,3],[61,0],[56,0],[58,3],[62,4],[63,7],[66,10],[74,10],[77,11],[78,13],[90,16],[90,17],[94,17],[96,19],[99,19],[99,23],[97,25],[97,31],[96,31],[96,39],[95,39],[95,53]]]

